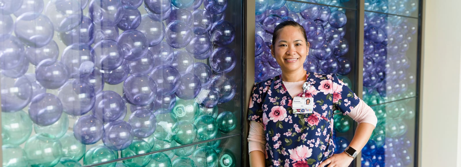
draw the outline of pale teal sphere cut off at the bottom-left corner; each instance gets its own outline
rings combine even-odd
[[[5,113],[2,113],[5,114]],[[3,167],[26,167],[27,158],[24,150],[16,145],[4,144],[1,146],[3,153]]]

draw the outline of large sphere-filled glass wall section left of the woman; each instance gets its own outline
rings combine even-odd
[[[243,8],[232,2],[5,1],[3,166],[240,166]]]

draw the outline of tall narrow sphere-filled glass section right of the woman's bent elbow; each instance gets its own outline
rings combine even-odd
[[[417,163],[419,0],[365,0],[363,100],[378,125],[362,149],[362,166]]]

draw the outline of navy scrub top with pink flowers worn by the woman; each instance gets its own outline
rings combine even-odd
[[[292,113],[290,94],[281,76],[256,83],[248,120],[262,122],[266,132],[266,166],[316,167],[333,155],[333,112],[348,114],[360,99],[335,74],[307,72],[313,113]]]

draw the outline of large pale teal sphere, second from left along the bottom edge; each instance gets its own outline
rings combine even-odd
[[[53,167],[62,157],[62,145],[58,139],[47,134],[36,134],[24,145],[26,158],[31,166]]]

